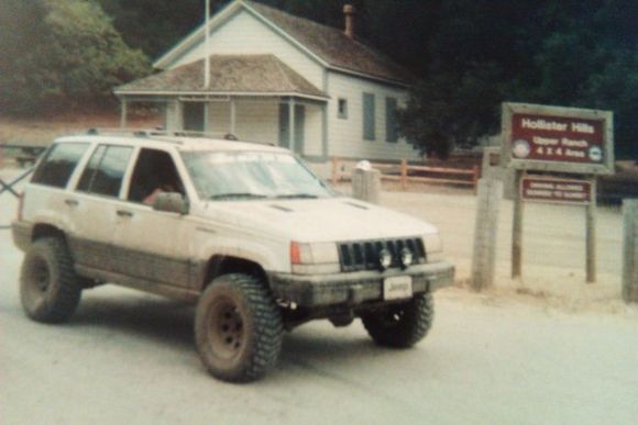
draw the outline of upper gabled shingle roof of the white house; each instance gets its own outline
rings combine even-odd
[[[257,19],[273,25],[283,36],[301,45],[321,65],[348,74],[382,79],[400,85],[409,85],[414,76],[387,56],[350,38],[341,30],[295,16],[280,10],[250,0],[238,0],[217,13],[211,20],[211,27],[220,25],[222,15],[232,14],[243,8]],[[177,44],[175,48],[156,60],[155,66],[167,66],[183,51],[204,38],[205,25]]]

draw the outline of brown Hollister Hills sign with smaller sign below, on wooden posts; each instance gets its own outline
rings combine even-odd
[[[504,103],[505,166],[515,170],[512,277],[522,275],[524,202],[586,205],[586,280],[596,281],[596,176],[614,172],[613,114]],[[528,174],[529,171],[529,174]]]

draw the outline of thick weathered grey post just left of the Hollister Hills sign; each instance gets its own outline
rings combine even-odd
[[[502,198],[503,181],[495,178],[479,180],[474,254],[472,256],[472,288],[476,291],[494,284],[496,232]]]

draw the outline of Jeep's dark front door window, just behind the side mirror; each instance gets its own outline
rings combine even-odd
[[[168,153],[142,148],[133,169],[128,200],[152,205],[162,192],[186,195],[177,167]]]

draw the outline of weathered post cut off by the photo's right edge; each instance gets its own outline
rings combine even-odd
[[[638,199],[623,201],[623,300],[638,303]]]

